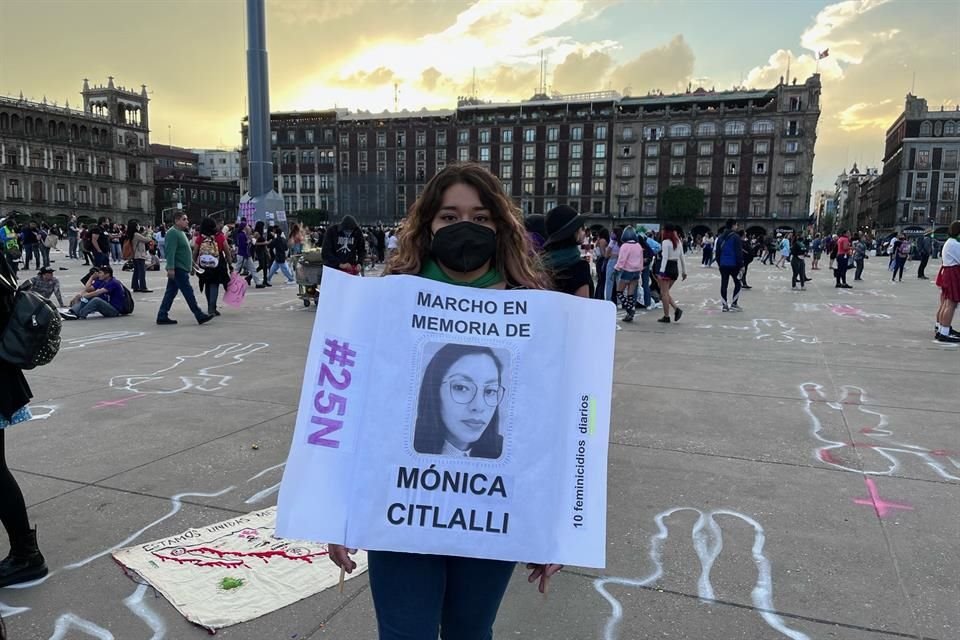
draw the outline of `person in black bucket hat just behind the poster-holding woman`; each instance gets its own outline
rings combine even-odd
[[[562,204],[547,212],[544,231],[543,264],[553,275],[554,290],[581,298],[593,297],[590,264],[580,255],[583,241],[583,216]]]

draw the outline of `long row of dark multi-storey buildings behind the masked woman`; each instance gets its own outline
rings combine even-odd
[[[814,75],[763,91],[598,92],[500,104],[463,99],[449,111],[279,113],[271,130],[278,191],[290,212],[319,208],[331,218],[392,222],[434,173],[473,161],[500,178],[525,215],[569,204],[608,222],[654,223],[664,190],[686,185],[705,194],[692,227],[735,217],[772,230],[809,220],[819,115]],[[320,163],[321,153],[334,162]]]

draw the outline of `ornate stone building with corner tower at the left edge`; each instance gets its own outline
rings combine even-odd
[[[153,210],[146,86],[83,82],[83,110],[0,97],[0,216],[124,222]]]

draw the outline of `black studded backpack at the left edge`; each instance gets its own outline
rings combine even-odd
[[[60,350],[62,326],[53,302],[32,291],[18,290],[0,335],[0,360],[21,369],[49,363]]]

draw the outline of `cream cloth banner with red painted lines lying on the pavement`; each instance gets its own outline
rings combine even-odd
[[[274,537],[276,507],[121,549],[123,567],[162,593],[187,620],[219,629],[334,586],[325,545]],[[366,556],[355,556],[359,571]]]

